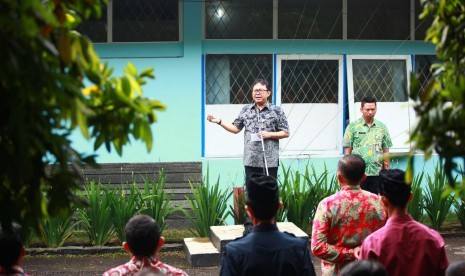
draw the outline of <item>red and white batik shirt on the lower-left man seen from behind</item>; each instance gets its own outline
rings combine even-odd
[[[183,270],[164,264],[160,262],[157,258],[146,257],[146,258],[140,259],[134,256],[129,262],[106,271],[105,273],[103,273],[103,276],[134,275],[139,270],[145,267],[149,267],[154,272],[161,272],[163,275],[176,275],[176,276],[187,275],[187,273],[184,272]]]

